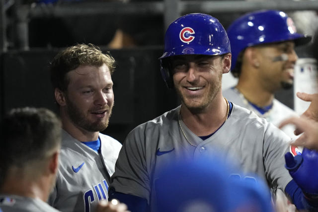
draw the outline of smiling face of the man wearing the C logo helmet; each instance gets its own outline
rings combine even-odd
[[[221,90],[223,57],[175,56],[171,60],[174,87],[191,111],[208,107]]]

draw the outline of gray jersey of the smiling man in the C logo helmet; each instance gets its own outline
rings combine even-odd
[[[160,167],[178,158],[196,159],[224,152],[236,158],[243,173],[253,173],[272,188],[285,189],[292,180],[284,168],[290,138],[255,113],[233,105],[230,117],[210,138],[202,140],[180,120],[180,106],[130,132],[119,153],[111,186],[155,205],[155,181]],[[233,173],[237,174],[237,173]],[[161,185],[164,186],[164,185]]]

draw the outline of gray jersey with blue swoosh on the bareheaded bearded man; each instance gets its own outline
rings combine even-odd
[[[114,173],[121,143],[99,134],[100,153],[76,140],[66,131],[57,182],[49,204],[63,212],[93,211],[101,199],[108,199],[110,176]]]

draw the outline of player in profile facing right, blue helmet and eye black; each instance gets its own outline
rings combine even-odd
[[[232,50],[231,73],[239,81],[223,95],[275,126],[296,115],[275,99],[274,93],[293,86],[298,59],[295,46],[309,43],[311,37],[298,34],[293,20],[277,10],[247,13],[236,19],[227,32]],[[294,128],[283,131],[295,137]]]

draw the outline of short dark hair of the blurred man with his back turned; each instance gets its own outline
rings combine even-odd
[[[0,127],[1,178],[9,168],[43,161],[61,146],[61,122],[45,108],[12,109],[3,117]]]

